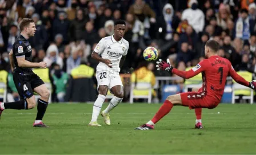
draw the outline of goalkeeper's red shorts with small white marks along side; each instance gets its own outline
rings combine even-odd
[[[202,91],[202,88],[198,92],[183,92],[181,93],[182,105],[195,108],[208,108],[213,109],[219,104],[219,100],[214,97],[207,96],[206,92]]]

